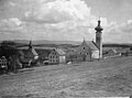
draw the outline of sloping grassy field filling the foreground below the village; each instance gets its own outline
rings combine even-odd
[[[132,57],[35,67],[0,76],[3,98],[88,98],[132,95]]]

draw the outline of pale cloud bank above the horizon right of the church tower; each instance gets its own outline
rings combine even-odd
[[[113,43],[131,43],[132,20],[128,20],[121,24],[117,24],[116,22],[111,23],[103,33],[103,40]]]

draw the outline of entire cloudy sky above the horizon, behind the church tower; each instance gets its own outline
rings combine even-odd
[[[132,0],[0,0],[0,40],[132,43]]]

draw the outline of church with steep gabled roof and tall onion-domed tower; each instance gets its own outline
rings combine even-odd
[[[91,61],[94,58],[102,57],[102,28],[100,25],[100,20],[98,21],[98,25],[95,28],[96,30],[96,42],[86,41],[84,39],[82,43],[77,47],[77,61]]]

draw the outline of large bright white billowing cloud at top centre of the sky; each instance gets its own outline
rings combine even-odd
[[[37,1],[37,6],[25,12],[26,21],[38,23],[58,23],[73,20],[85,20],[90,15],[90,8],[81,0]]]

